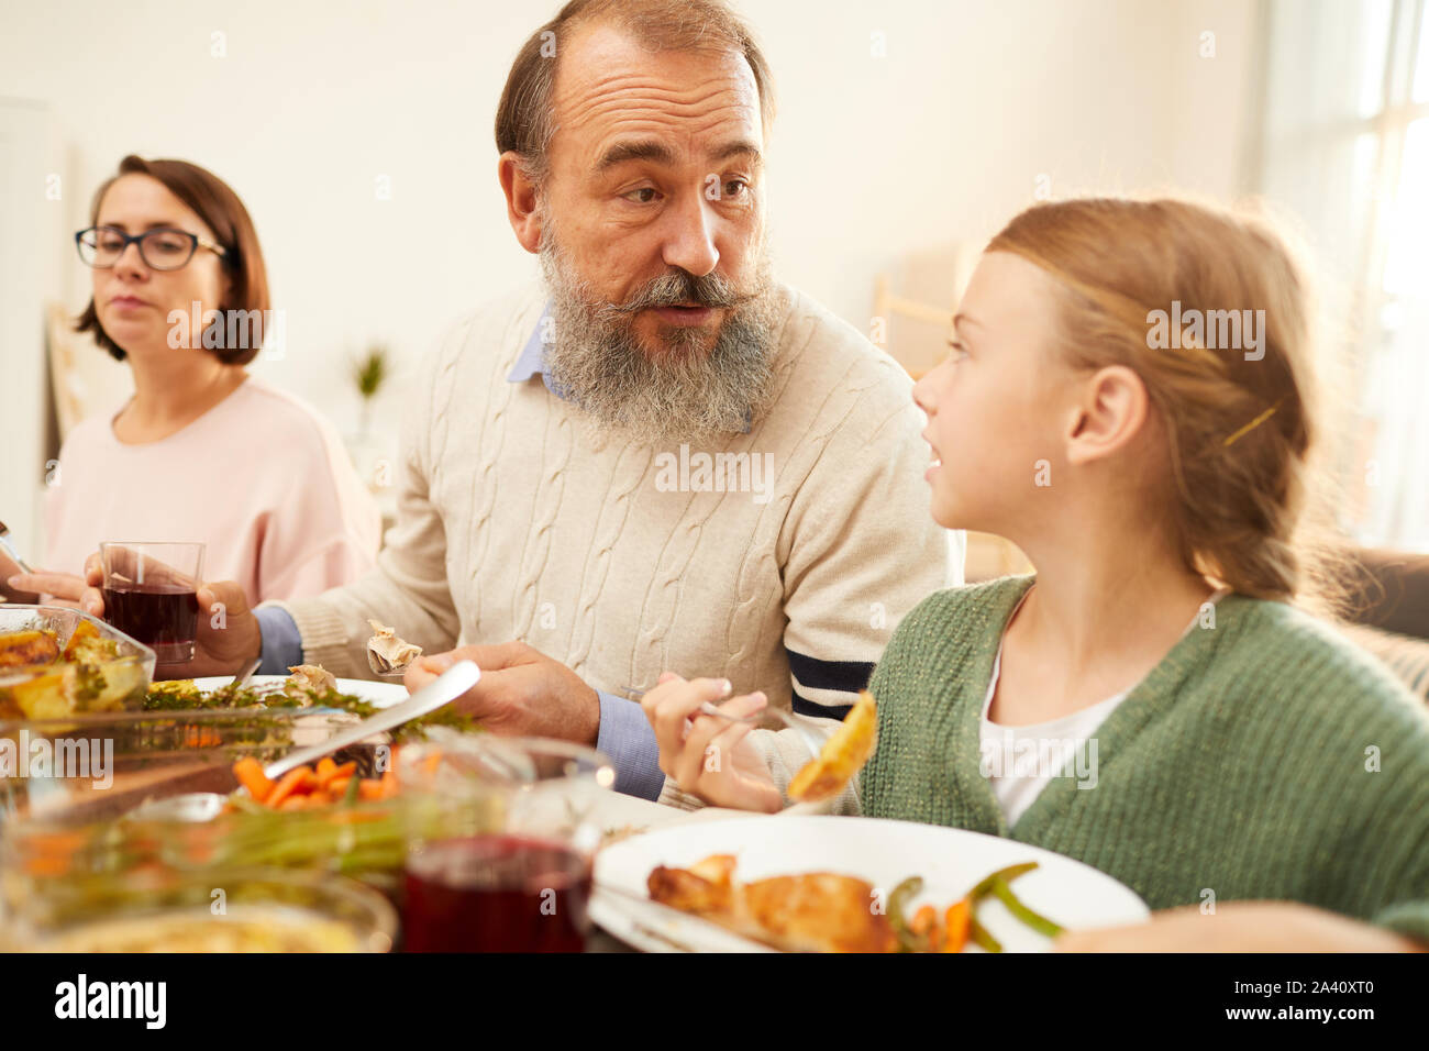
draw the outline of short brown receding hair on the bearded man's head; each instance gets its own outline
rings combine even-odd
[[[627,30],[656,51],[699,47],[739,51],[755,73],[760,120],[769,133],[775,116],[769,63],[755,34],[722,0],[570,0],[522,44],[496,107],[496,149],[520,154],[527,179],[540,183],[549,173],[550,140],[556,133],[552,97],[556,63],[549,56],[560,54],[576,27],[600,20]]]

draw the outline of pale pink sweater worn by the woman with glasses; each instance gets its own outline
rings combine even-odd
[[[201,541],[203,576],[253,603],[317,595],[374,563],[382,513],[336,429],[259,379],[183,430],[123,445],[79,423],[47,503],[46,568],[83,573],[100,541]]]

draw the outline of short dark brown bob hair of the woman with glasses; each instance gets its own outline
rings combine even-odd
[[[119,162],[119,172],[104,180],[96,190],[90,204],[90,223],[99,222],[99,206],[114,180],[126,174],[146,174],[157,179],[179,200],[187,204],[213,230],[219,245],[227,255],[220,263],[233,286],[233,302],[220,302],[220,310],[267,310],[267,269],[263,266],[263,252],[259,249],[259,235],[253,229],[249,210],[226,182],[207,169],[190,164],[187,160],[144,160],[130,153]],[[214,326],[224,330],[221,315]],[[93,332],[94,342],[109,350],[114,360],[124,360],[124,349],[119,346],[99,323],[94,300],[90,299],[84,313],[74,322],[76,332]],[[259,347],[207,347],[224,365],[247,365]]]

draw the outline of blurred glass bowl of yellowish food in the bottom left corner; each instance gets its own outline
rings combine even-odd
[[[387,952],[397,914],[353,879],[304,871],[143,868],[7,894],[11,951]]]

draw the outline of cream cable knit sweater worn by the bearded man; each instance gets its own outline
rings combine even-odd
[[[813,300],[780,299],[770,408],[750,433],[686,450],[677,475],[677,445],[602,446],[539,378],[506,382],[543,289],[460,322],[414,388],[377,568],[279,603],[306,659],[367,678],[374,618],[429,653],[519,638],[610,692],[673,669],[785,708],[796,689],[850,702],[797,684],[786,646],[872,665],[907,611],[960,581],[960,545],[929,519],[909,378]],[[757,455],[769,488],[700,490],[702,452]]]

